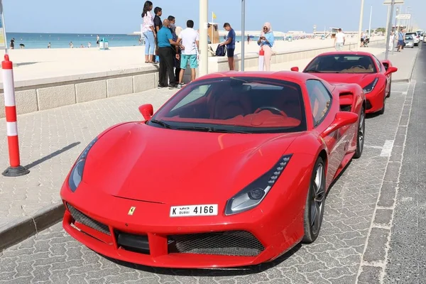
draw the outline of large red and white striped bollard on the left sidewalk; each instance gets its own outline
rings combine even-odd
[[[3,175],[6,177],[18,177],[30,173],[21,165],[19,158],[19,141],[18,141],[18,122],[16,121],[16,104],[15,104],[15,84],[13,81],[13,63],[9,60],[9,55],[4,55],[4,61],[1,62],[3,69],[3,91],[4,91],[4,107],[6,109],[6,129],[7,143],[9,145],[9,163],[10,167],[4,170]]]

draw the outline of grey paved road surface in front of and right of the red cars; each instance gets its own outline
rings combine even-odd
[[[417,82],[393,84],[386,113],[368,117],[363,156],[332,187],[314,244],[248,270],[170,270],[111,261],[56,224],[0,253],[0,283],[425,283],[425,56]]]

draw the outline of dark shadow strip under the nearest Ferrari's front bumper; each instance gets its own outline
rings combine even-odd
[[[102,255],[100,256],[118,264],[119,266],[125,266],[128,268],[133,268],[133,269],[137,269],[138,271],[144,271],[148,273],[173,275],[173,276],[200,276],[200,277],[239,276],[239,275],[250,275],[250,274],[261,273],[263,271],[267,271],[268,269],[274,268],[275,266],[278,266],[280,263],[282,263],[286,259],[293,256],[293,254],[295,254],[301,247],[302,247],[301,243],[297,244],[296,246],[293,247],[293,249],[290,249],[290,251],[288,251],[287,253],[284,253],[283,256],[278,257],[274,261],[261,263],[261,264],[258,264],[257,266],[245,266],[245,267],[238,267],[238,268],[199,268],[199,269],[157,268],[157,267],[151,267],[151,266],[140,266],[134,263],[118,261],[116,259],[109,258],[107,256],[102,256]]]

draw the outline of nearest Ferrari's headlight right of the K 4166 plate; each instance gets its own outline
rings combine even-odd
[[[264,173],[260,178],[246,186],[244,190],[241,190],[228,200],[228,202],[226,202],[225,214],[231,215],[241,213],[260,204],[275,184],[275,181],[278,180],[281,173],[283,173],[291,156],[291,154],[283,155],[271,170],[268,170],[268,172]]]

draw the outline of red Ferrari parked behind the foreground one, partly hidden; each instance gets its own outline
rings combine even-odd
[[[292,67],[292,71],[299,71]],[[385,112],[386,97],[391,96],[393,67],[389,60],[378,60],[366,52],[336,51],[317,55],[302,72],[315,73],[327,82],[359,84],[366,94],[366,113]]]

